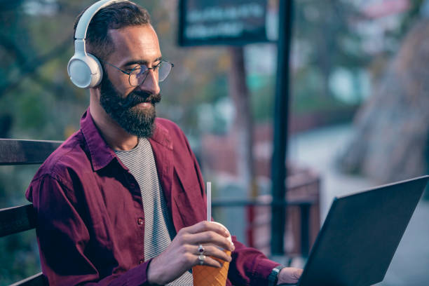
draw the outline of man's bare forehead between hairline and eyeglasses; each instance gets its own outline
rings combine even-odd
[[[151,25],[129,26],[109,30],[114,52],[109,62],[121,66],[125,62],[154,62],[161,57],[158,36]]]

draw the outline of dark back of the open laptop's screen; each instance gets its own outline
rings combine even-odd
[[[383,281],[429,176],[334,198],[297,286]]]

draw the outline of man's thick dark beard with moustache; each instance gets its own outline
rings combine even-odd
[[[160,93],[154,95],[143,90],[133,90],[123,98],[107,75],[102,80],[100,93],[100,104],[125,131],[139,138],[149,138],[154,134],[155,104],[161,101]],[[136,105],[142,102],[150,102],[151,107],[139,109]]]

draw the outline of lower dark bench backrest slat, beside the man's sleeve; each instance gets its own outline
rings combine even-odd
[[[36,227],[36,214],[32,204],[0,210],[0,238]]]

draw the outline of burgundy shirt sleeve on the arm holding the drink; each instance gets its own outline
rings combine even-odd
[[[90,233],[79,215],[86,209],[58,179],[50,175],[34,179],[27,198],[36,210],[41,267],[49,285],[149,285],[150,261],[121,274],[97,270],[87,253]]]

